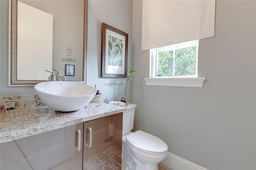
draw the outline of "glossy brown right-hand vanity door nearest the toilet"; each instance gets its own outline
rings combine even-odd
[[[122,164],[122,113],[84,123],[83,170],[118,170]]]

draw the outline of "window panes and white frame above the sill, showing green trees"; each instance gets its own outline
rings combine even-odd
[[[198,40],[151,50],[155,51],[154,76],[197,76]]]

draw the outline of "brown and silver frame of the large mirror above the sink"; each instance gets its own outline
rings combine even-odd
[[[44,81],[17,80],[17,7],[18,0],[9,0],[9,42],[8,42],[8,85],[9,86],[34,86]],[[86,83],[86,58],[87,58],[87,18],[88,0],[84,0],[84,45],[83,45],[83,70],[82,81]],[[32,70],[29,70],[32,71]],[[46,80],[45,80],[46,81]]]

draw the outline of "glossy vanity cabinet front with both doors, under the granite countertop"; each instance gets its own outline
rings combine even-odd
[[[122,113],[0,144],[0,170],[121,169]]]

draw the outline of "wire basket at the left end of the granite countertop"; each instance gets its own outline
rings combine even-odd
[[[6,96],[2,97],[6,114],[15,115],[29,113],[33,106],[35,97],[30,96]]]

